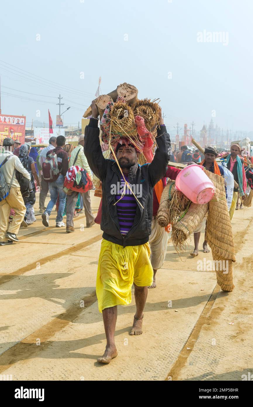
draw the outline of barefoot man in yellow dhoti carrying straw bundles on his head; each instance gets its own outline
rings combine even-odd
[[[117,356],[114,340],[117,305],[131,302],[135,287],[136,313],[130,335],[142,334],[143,310],[153,269],[148,245],[153,214],[153,188],[164,176],[169,161],[170,138],[159,115],[157,150],[151,164],[137,164],[139,153],[133,144],[118,144],[116,158],[106,160],[100,147],[98,109],[92,102],[92,118],[85,127],[84,153],[94,174],[102,182],[103,230],[96,294],[98,309],[103,313],[107,345],[101,363]],[[133,193],[126,186],[129,182]],[[123,192],[123,193],[122,193]],[[133,195],[134,194],[134,195]]]

